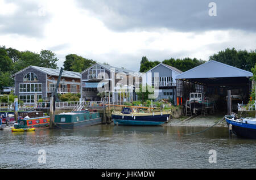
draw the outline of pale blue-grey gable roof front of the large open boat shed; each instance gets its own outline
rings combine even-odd
[[[176,76],[176,79],[251,77],[253,73],[217,61],[208,61]]]

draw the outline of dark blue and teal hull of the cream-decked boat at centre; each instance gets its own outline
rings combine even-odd
[[[117,115],[112,114],[112,119],[115,125],[127,126],[158,126],[168,121],[170,114],[162,115]]]

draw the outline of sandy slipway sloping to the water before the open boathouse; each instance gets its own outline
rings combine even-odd
[[[170,119],[168,123],[165,123],[164,126],[192,126],[192,127],[209,127],[213,126],[215,123],[220,121],[224,117],[221,115],[199,115],[193,117],[184,117],[184,118],[173,118]],[[215,126],[225,127],[226,121],[222,119],[222,121],[218,122]]]

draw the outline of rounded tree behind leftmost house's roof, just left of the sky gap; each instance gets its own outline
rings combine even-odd
[[[59,61],[59,59],[56,57],[55,53],[50,50],[41,50],[39,66],[57,68],[57,61]]]

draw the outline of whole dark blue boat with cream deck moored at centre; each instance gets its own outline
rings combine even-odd
[[[169,117],[170,111],[136,112],[131,108],[123,108],[122,112],[112,112],[115,125],[157,126],[167,122]]]

